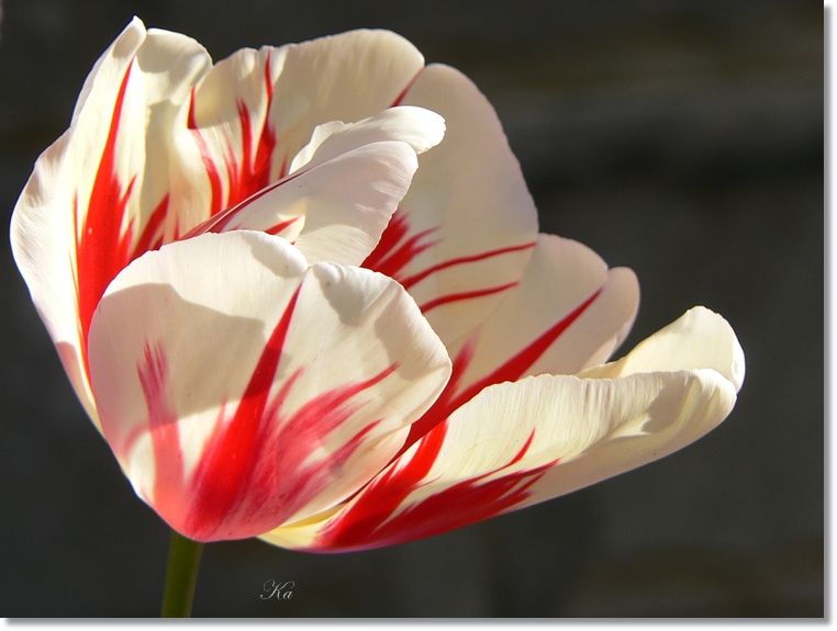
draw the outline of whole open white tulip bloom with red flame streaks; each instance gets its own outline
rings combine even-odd
[[[484,97],[383,31],[213,66],[134,19],[11,239],[136,494],[200,542],[438,534],[680,449],[744,379],[703,307],[605,363],[636,277],[539,235]]]

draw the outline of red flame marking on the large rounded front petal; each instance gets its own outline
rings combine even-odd
[[[222,408],[186,482],[178,419],[166,403],[165,357],[146,351],[140,371],[157,472],[149,502],[192,539],[243,539],[281,525],[333,483],[379,422],[367,424],[330,453],[328,437],[362,405],[357,395],[392,374],[397,364],[366,381],[323,392],[287,415],[282,406],[299,383],[304,370],[300,368],[270,399],[299,292],[266,342],[232,418]]]

